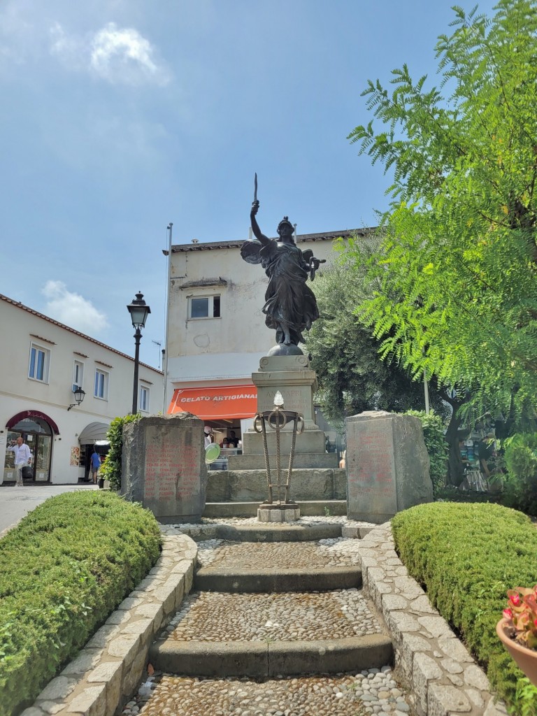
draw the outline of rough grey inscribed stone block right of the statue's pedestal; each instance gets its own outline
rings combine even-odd
[[[347,417],[347,516],[383,523],[432,502],[420,420],[382,410]]]

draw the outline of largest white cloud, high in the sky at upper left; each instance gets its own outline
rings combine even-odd
[[[154,59],[149,40],[131,27],[109,22],[86,37],[69,35],[58,22],[50,28],[50,52],[72,69],[86,69],[112,84],[167,84],[170,73]]]

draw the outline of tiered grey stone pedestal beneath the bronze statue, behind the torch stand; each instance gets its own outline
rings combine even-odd
[[[274,409],[276,391],[281,392],[286,410],[294,410],[304,415],[304,432],[296,437],[294,465],[311,468],[337,468],[337,455],[327,454],[324,432],[315,423],[313,396],[317,387],[315,372],[309,369],[309,359],[304,355],[279,355],[261,358],[259,370],[252,374],[253,384],[257,387],[257,410]],[[292,422],[280,432],[281,467],[289,464]],[[276,435],[267,430],[267,447],[271,458],[271,470],[276,468]],[[304,464],[302,457],[307,460]],[[230,469],[262,470],[263,436],[255,430],[243,433],[243,455],[230,458]],[[292,484],[292,483],[291,483]]]

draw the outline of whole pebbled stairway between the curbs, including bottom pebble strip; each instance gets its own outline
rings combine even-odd
[[[150,648],[164,675],[144,714],[355,716],[368,699],[408,710],[384,622],[358,589],[357,541],[313,529],[316,542],[271,542],[274,527],[256,544],[198,544],[196,591]]]

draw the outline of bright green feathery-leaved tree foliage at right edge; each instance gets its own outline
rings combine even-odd
[[[537,0],[500,0],[492,18],[453,10],[436,46],[439,87],[406,64],[391,91],[369,81],[374,118],[349,135],[394,176],[360,316],[384,357],[471,390],[475,415],[533,416]]]

